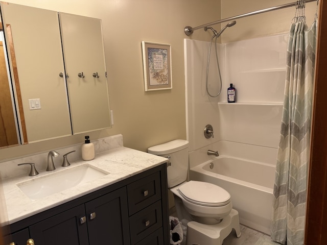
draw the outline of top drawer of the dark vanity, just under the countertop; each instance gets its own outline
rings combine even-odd
[[[127,185],[129,215],[158,201],[161,198],[160,189],[159,172]]]

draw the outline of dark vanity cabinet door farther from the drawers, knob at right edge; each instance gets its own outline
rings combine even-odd
[[[29,227],[35,244],[88,245],[84,205],[77,206]],[[26,244],[26,243],[25,243]]]

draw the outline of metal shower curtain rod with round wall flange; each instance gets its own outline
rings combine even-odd
[[[317,1],[317,0],[307,0],[306,3],[310,3],[310,2],[314,2],[314,1]],[[261,13],[265,13],[265,12],[269,12],[269,11],[273,11],[273,10],[292,7],[292,6],[295,6],[297,4],[297,2],[284,4],[284,5],[279,5],[279,6],[275,6],[275,7],[271,7],[271,8],[267,8],[267,9],[257,10],[257,11],[253,11],[253,12],[250,12],[250,13],[241,14],[241,15],[237,15],[237,16],[217,20],[217,21],[214,21],[214,22],[211,22],[211,23],[202,24],[202,26],[198,26],[198,27],[194,27],[194,28],[187,26],[187,27],[184,28],[184,33],[186,35],[190,36],[193,33],[193,31],[198,30],[200,28],[213,26],[214,24],[219,24],[219,23],[222,23],[222,22],[227,22],[227,21],[230,21],[230,20],[235,20],[235,19],[239,19],[239,18],[243,18],[243,17],[255,15],[255,14],[261,14]]]

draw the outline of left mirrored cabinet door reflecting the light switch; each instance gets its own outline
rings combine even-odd
[[[11,75],[20,90],[15,99],[21,99],[21,127],[26,127],[28,142],[71,135],[66,84],[59,77],[64,63],[58,13],[6,3],[1,10],[7,46],[13,42]],[[39,99],[41,109],[30,110],[30,99]]]

